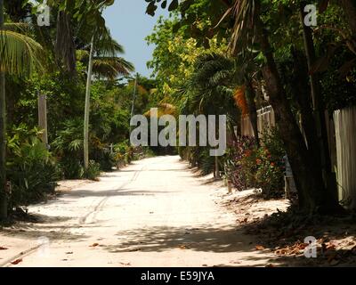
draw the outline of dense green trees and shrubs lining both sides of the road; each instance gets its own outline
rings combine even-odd
[[[153,151],[178,152],[204,174],[265,197],[283,195],[287,155],[299,209],[341,211],[324,114],[356,104],[352,0],[315,1],[316,27],[304,25],[302,0],[146,0],[150,15],[158,5],[171,11],[147,37],[151,79],[131,77],[134,66],[120,57],[124,48],[102,17],[113,2],[49,0],[51,25],[38,27],[33,4],[0,0],[0,217],[53,192],[59,179],[95,179],[142,157],[147,150],[129,143],[134,93],[136,114],[158,107],[158,116],[228,118],[221,158],[208,147]],[[47,98],[48,145],[39,95]],[[257,110],[269,105],[277,127],[261,134]],[[241,136],[247,116],[254,139]]]

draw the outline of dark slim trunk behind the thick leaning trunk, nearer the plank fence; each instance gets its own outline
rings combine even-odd
[[[303,27],[303,41],[305,54],[308,62],[308,69],[310,74],[310,84],[312,91],[312,106],[313,106],[313,116],[316,123],[316,131],[318,137],[318,144],[320,150],[320,162],[321,162],[321,171],[323,175],[324,184],[330,192],[331,196],[337,200],[337,187],[336,187],[336,175],[331,171],[331,159],[330,152],[328,149],[328,132],[327,132],[327,123],[325,118],[325,106],[324,101],[321,96],[321,87],[319,82],[319,76],[316,73],[311,73],[312,66],[316,61],[316,54],[314,48],[314,42],[312,38],[312,29],[307,27],[303,23],[305,17],[304,6],[305,2],[300,5],[300,20]],[[315,146],[316,147],[316,146]],[[315,149],[314,151],[317,151]]]

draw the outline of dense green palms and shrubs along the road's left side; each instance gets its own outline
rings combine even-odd
[[[138,75],[136,83],[130,77],[134,66],[119,56],[124,48],[110,37],[101,16],[109,2],[49,4],[49,27],[36,25],[36,7],[27,1],[6,2],[1,11],[6,126],[2,121],[0,128],[7,140],[2,150],[2,216],[4,208],[44,199],[61,179],[96,179],[101,171],[122,167],[145,152],[129,143],[134,85],[134,111],[144,113],[155,81]],[[46,96],[48,145],[38,122],[40,94]],[[87,166],[85,95],[90,96]]]

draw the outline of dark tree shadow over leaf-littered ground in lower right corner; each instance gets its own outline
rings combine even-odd
[[[242,224],[241,229],[258,237],[263,248],[274,251],[276,257],[271,263],[279,266],[356,266],[356,224],[352,216],[297,216],[290,210]],[[309,236],[317,240],[315,258],[304,256],[303,246],[298,251]],[[333,247],[335,243],[338,249]]]

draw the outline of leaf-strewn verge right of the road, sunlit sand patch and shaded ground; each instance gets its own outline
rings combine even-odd
[[[258,237],[256,250],[271,250],[278,256],[278,265],[356,265],[356,227],[351,216],[338,218],[300,216],[293,211],[285,213],[287,200],[263,200],[251,191],[225,196],[223,206],[236,214],[239,228]],[[309,244],[301,240],[307,236],[317,239],[317,258],[304,256],[304,249]],[[273,266],[277,265],[274,262],[266,265]]]

